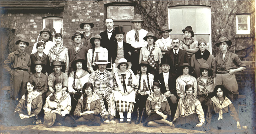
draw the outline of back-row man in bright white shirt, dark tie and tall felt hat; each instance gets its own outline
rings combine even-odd
[[[140,49],[148,44],[147,41],[143,40],[148,31],[141,28],[141,23],[144,22],[141,19],[140,14],[134,15],[133,20],[131,21],[134,28],[126,34],[126,42],[131,44],[134,48],[134,51],[132,52],[132,71],[134,74],[137,74],[137,68],[139,67]]]

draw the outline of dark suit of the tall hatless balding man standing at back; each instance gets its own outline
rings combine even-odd
[[[112,57],[111,53],[113,53],[113,44],[114,44],[114,41],[116,40],[115,30],[113,29],[110,39],[108,39],[108,31],[107,30],[101,32],[100,36],[101,36],[100,46],[102,46],[103,48],[106,48],[108,50],[108,62],[111,62],[111,57]],[[107,68],[110,68],[110,67],[111,67],[111,64],[108,64]]]

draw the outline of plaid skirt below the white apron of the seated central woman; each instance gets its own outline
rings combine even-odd
[[[116,101],[116,109],[118,112],[131,112],[134,108],[134,102],[126,102],[122,100]]]

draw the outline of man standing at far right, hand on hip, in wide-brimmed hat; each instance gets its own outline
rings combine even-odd
[[[229,91],[228,98],[233,101],[233,94],[238,93],[235,73],[243,71],[246,68],[235,53],[228,51],[228,47],[231,44],[231,40],[228,40],[224,36],[220,37],[218,43],[215,44],[221,51],[215,57],[214,72],[216,72],[216,79],[214,81],[216,81],[216,85],[223,85],[227,88]]]

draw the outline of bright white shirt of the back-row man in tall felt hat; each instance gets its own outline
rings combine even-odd
[[[139,30],[139,42],[135,41],[135,38],[134,38],[135,33],[136,32],[133,29],[131,31],[127,32],[127,34],[126,34],[126,42],[131,44],[131,46],[134,47],[134,48],[147,46],[148,42],[143,40],[143,38],[145,36],[147,36],[148,31],[146,31],[144,29],[140,29]]]

